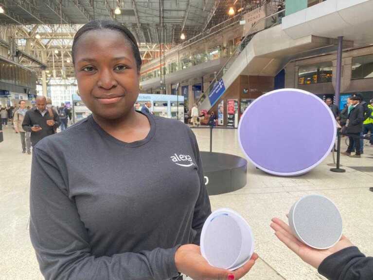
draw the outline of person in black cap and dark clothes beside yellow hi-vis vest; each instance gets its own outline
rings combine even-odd
[[[363,130],[364,109],[363,106],[361,106],[360,104],[360,98],[358,96],[353,95],[351,97],[351,103],[353,105],[353,108],[348,114],[348,120],[346,123],[346,133],[348,135],[350,143],[347,150],[345,152],[341,152],[341,154],[348,155],[350,157],[360,157],[360,134]],[[355,155],[351,155],[354,143],[356,153]]]

